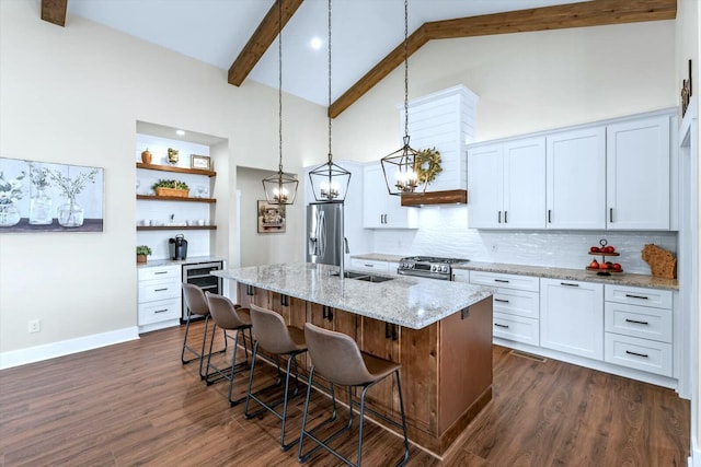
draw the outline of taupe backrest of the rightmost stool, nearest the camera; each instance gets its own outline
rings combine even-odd
[[[307,323],[304,339],[314,371],[331,383],[360,386],[376,380],[368,372],[358,345],[349,336]]]

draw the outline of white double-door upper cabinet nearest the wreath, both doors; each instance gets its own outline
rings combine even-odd
[[[545,139],[514,140],[468,152],[469,225],[543,229]]]

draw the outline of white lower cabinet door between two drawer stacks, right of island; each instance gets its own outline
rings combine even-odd
[[[604,359],[604,285],[540,280],[540,346]]]

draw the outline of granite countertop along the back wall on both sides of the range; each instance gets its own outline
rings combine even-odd
[[[377,261],[399,262],[403,256],[369,253],[365,255],[353,255],[352,258],[371,259]],[[612,272],[611,276],[597,276],[596,272],[586,269],[552,268],[547,266],[524,266],[504,262],[480,262],[469,261],[462,265],[453,265],[453,269],[502,272],[506,275],[536,276],[549,279],[578,280],[585,282],[598,282],[616,285],[643,287],[648,289],[679,290],[677,279],[664,279],[646,275],[632,275],[629,272]]]

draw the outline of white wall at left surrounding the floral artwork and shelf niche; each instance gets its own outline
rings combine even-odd
[[[9,351],[136,329],[137,121],[229,142],[234,162],[218,166],[216,182],[228,215],[212,253],[234,262],[235,165],[277,167],[277,90],[232,86],[226,70],[81,17],[56,26],[39,19],[37,1],[0,2],[0,155],[105,175],[104,232],[0,233],[0,366]],[[300,173],[306,154],[325,153],[325,109],[284,98],[285,167]],[[28,319],[42,331],[27,334]]]

